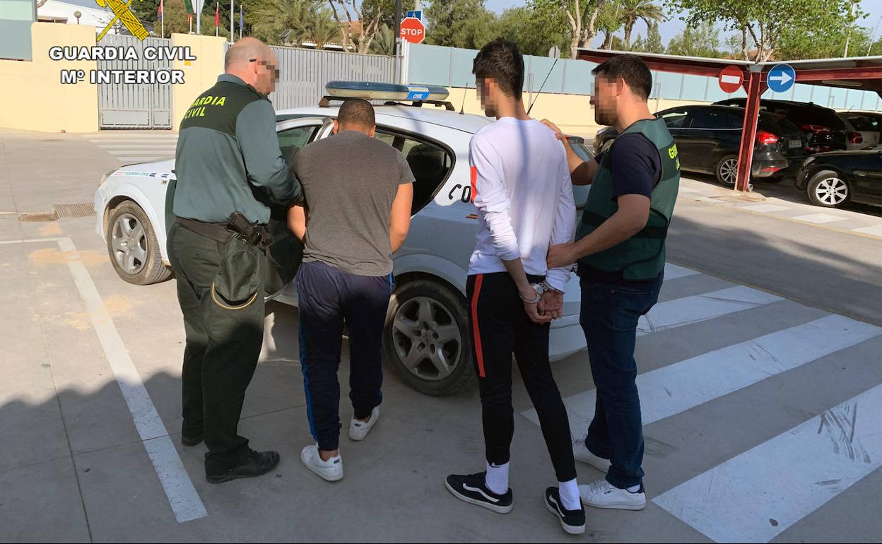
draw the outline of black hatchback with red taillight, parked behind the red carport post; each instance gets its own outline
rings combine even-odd
[[[683,106],[655,116],[665,120],[674,137],[681,169],[713,174],[723,185],[735,185],[744,108]],[[595,153],[609,149],[617,136],[612,127],[599,130],[594,135]],[[784,117],[760,113],[752,176],[775,181],[795,172],[805,158],[805,139],[804,132]]]

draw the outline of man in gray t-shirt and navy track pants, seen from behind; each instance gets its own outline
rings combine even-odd
[[[343,477],[340,458],[340,337],[349,337],[349,438],[363,440],[377,424],[383,400],[381,344],[392,296],[392,253],[410,227],[414,175],[398,149],[374,139],[374,108],[350,100],[340,107],[334,135],[303,147],[295,173],[306,208],[288,223],[303,240],[297,271],[300,364],[306,413],[315,444],[301,460],[327,481]]]

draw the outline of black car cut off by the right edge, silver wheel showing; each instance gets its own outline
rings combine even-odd
[[[882,206],[882,145],[811,155],[796,173],[795,184],[814,205]]]

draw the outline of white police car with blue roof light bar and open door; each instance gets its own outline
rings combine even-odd
[[[408,96],[385,94],[383,88],[377,91],[377,84],[342,86],[348,87],[348,92],[338,89],[335,98],[348,95],[394,101]],[[388,90],[390,86],[384,87]],[[368,88],[371,93],[359,93],[359,88]],[[401,89],[392,91],[399,93]],[[446,96],[443,87],[433,92]],[[409,97],[414,100],[414,94]],[[332,134],[337,110],[316,107],[278,112],[279,145],[289,164],[304,145]],[[468,260],[477,230],[468,142],[475,131],[491,122],[487,117],[451,110],[448,102],[440,101],[387,102],[376,108],[377,138],[404,154],[416,178],[410,232],[394,256],[397,288],[385,328],[385,358],[407,384],[432,395],[458,391],[474,375],[465,300]],[[581,138],[571,141],[586,159],[590,157]],[[101,178],[95,191],[98,234],[107,241],[116,272],[130,283],[146,285],[171,275],[164,208],[174,168],[174,159],[117,168]],[[587,188],[574,190],[576,203],[584,203]],[[295,304],[290,279],[299,265],[300,242],[284,226],[283,211],[273,217],[273,256],[283,265],[276,270],[268,295]],[[562,359],[584,347],[585,337],[579,328],[579,285],[573,275],[564,296],[564,317],[551,324],[550,355],[552,360]]]

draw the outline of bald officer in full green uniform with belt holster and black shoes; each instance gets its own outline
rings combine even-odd
[[[187,336],[181,442],[193,446],[205,438],[212,483],[258,476],[279,464],[277,452],[250,449],[236,430],[263,344],[269,205],[301,198],[266,98],[275,66],[261,41],[244,38],[229,48],[226,73],[181,123],[177,186],[167,200],[167,212],[176,216],[168,256]],[[234,213],[238,221],[228,226]]]

